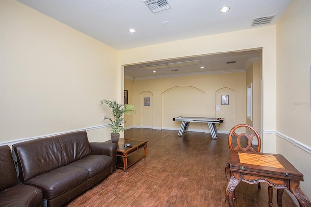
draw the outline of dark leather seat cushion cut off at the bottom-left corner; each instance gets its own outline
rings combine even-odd
[[[1,207],[38,207],[42,203],[42,191],[34,186],[17,184],[0,193]]]

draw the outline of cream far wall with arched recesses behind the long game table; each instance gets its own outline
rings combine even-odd
[[[134,127],[179,130],[180,122],[173,117],[222,117],[219,132],[229,133],[235,124],[245,122],[245,72],[136,80],[133,92],[133,103],[141,109],[134,115]],[[221,95],[229,95],[228,106],[221,105]],[[144,97],[150,96],[151,106],[144,106]],[[188,130],[209,128],[191,123]]]

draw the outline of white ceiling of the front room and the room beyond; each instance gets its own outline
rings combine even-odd
[[[253,19],[259,17],[275,15],[269,24],[261,26],[275,24],[290,3],[290,0],[168,0],[171,9],[153,13],[143,0],[18,1],[118,50],[247,29],[252,27]],[[220,13],[222,6],[231,9]],[[169,23],[163,24],[165,21]],[[137,32],[129,33],[130,28]],[[201,62],[208,65],[207,71],[184,66],[178,67],[175,74],[186,70],[192,74],[244,69],[248,58],[259,57],[259,54],[259,51],[251,51],[201,56]],[[237,62],[225,65],[227,61]],[[133,67],[125,68],[127,77],[151,77],[146,70],[138,71],[138,65]],[[159,77],[168,75],[176,68],[157,69],[156,74]]]

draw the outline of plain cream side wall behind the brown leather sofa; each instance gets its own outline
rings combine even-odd
[[[106,124],[99,102],[117,98],[117,50],[17,1],[0,3],[1,143]],[[108,139],[106,131],[89,138]]]

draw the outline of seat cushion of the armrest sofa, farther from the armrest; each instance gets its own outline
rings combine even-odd
[[[40,188],[44,199],[53,199],[86,181],[88,174],[84,168],[63,166],[38,175],[24,183]]]

